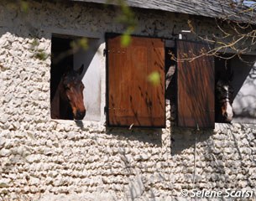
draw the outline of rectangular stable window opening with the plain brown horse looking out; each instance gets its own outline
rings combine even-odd
[[[87,49],[81,41],[87,44]],[[100,121],[101,65],[97,53],[100,44],[100,39],[53,34],[51,118]]]

